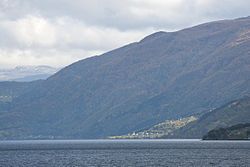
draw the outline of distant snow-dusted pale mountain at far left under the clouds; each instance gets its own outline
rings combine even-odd
[[[0,69],[0,81],[28,82],[46,79],[59,71],[50,66],[18,66],[14,69]]]

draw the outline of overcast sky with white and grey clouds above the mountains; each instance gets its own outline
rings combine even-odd
[[[0,69],[63,67],[157,31],[250,15],[250,0],[0,0]]]

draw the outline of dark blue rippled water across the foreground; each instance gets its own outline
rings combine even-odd
[[[250,142],[0,141],[0,166],[250,166]]]

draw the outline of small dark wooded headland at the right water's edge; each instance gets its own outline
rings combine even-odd
[[[209,131],[203,140],[250,140],[250,123]]]

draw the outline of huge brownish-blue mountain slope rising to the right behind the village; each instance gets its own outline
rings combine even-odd
[[[246,17],[78,61],[11,102],[2,138],[103,138],[207,112],[250,93],[249,46]]]

